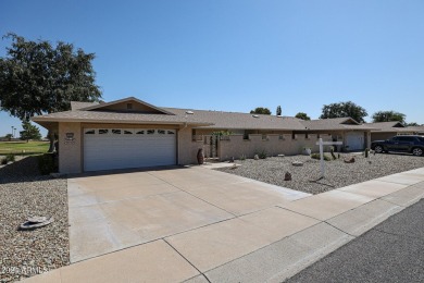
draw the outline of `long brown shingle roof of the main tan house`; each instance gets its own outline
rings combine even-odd
[[[116,101],[134,100],[125,98]],[[112,101],[105,106],[114,103]],[[139,103],[146,103],[136,99]],[[184,124],[195,127],[207,127],[217,130],[371,130],[367,125],[360,125],[350,118],[336,118],[313,121],[302,121],[297,118],[275,116],[263,114],[250,114],[238,112],[223,112],[210,110],[158,108],[164,111],[161,113],[137,113],[137,112],[113,112],[102,111],[93,107],[96,103],[72,102],[72,111],[57,112],[33,118],[39,123],[46,122],[90,122],[90,123],[135,123],[135,124]],[[149,104],[150,106],[150,104]],[[189,113],[192,112],[192,113]]]

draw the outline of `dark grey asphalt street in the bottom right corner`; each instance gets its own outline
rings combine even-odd
[[[424,199],[285,282],[424,282]]]

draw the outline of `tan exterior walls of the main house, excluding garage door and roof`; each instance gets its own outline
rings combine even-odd
[[[176,128],[174,125],[139,125],[139,124],[89,124],[89,123],[59,123],[59,170],[61,173],[82,173],[84,170],[84,138],[85,128]],[[209,131],[207,131],[209,133]],[[205,132],[205,133],[207,133]],[[73,139],[66,139],[66,133],[73,133]],[[197,133],[196,133],[197,134]],[[332,133],[344,139],[345,133]],[[249,139],[244,139],[244,134],[229,135],[227,140],[219,140],[217,156],[221,160],[232,157],[239,159],[241,156],[253,158],[255,153],[265,151],[269,156],[299,155],[304,147],[312,152],[319,152],[316,142],[319,136],[324,142],[332,140],[332,134],[292,134],[282,132],[279,134],[249,134]],[[177,130],[177,164],[197,163],[197,152],[200,148],[208,153],[209,145],[204,138],[192,140],[192,128],[180,127]],[[329,146],[325,147],[326,151]]]

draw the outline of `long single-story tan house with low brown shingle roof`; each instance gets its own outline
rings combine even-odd
[[[353,119],[296,118],[160,108],[129,97],[111,102],[72,102],[70,111],[34,116],[59,135],[59,171],[86,171],[196,163],[199,149],[220,160],[259,152],[317,151],[324,140],[362,150],[373,130]]]

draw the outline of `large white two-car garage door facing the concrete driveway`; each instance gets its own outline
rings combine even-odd
[[[85,171],[173,165],[175,163],[175,130],[84,130]]]

